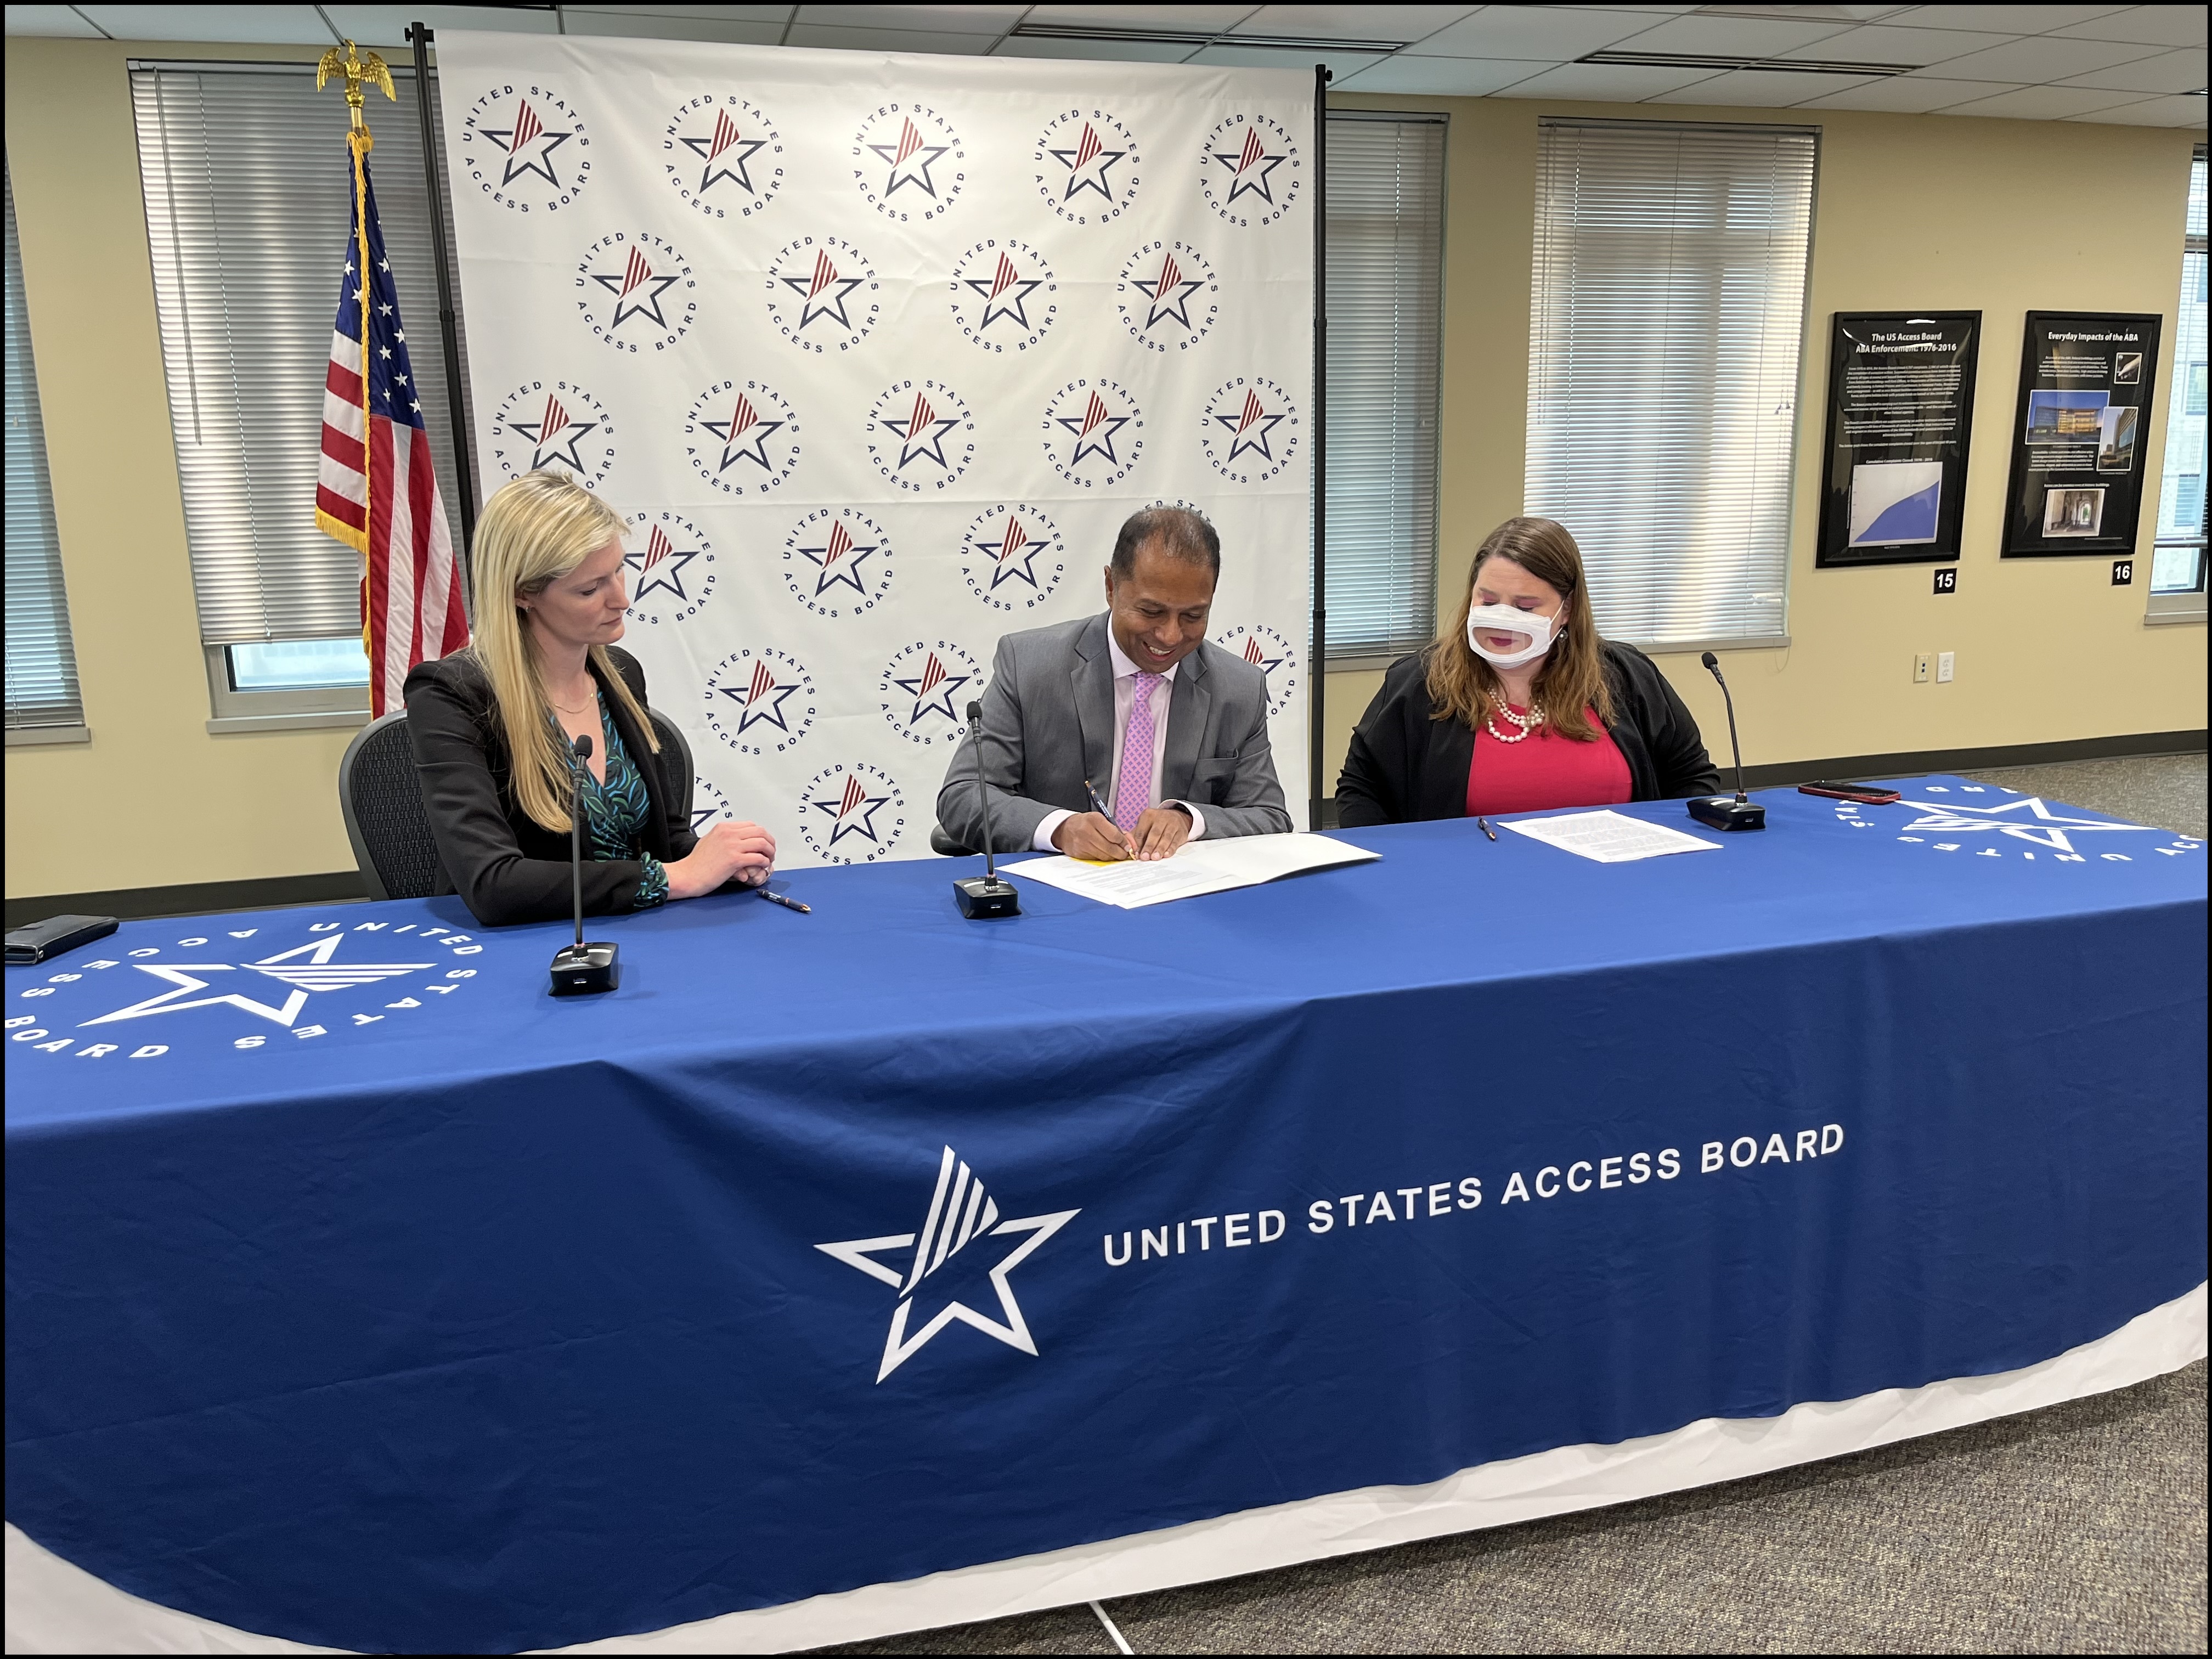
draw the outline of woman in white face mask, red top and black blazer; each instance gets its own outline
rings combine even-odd
[[[1385,675],[1352,732],[1336,812],[1352,830],[1719,787],[1650,657],[1597,637],[1575,538],[1509,518],[1475,553],[1451,626]]]

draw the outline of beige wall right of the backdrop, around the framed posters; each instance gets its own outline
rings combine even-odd
[[[1818,124],[1820,181],[1790,538],[1790,648],[1730,653],[1747,765],[1851,754],[2203,730],[2205,628],[2146,626],[2161,363],[2137,584],[2110,555],[2000,560],[2020,338],[2028,310],[2159,312],[2172,341],[2190,153],[2203,133],[1847,111],[1544,104],[1504,97],[1343,97],[1449,111],[1444,221],[1442,549],[1438,604],[1458,599],[1482,535],[1522,511],[1528,261],[1544,115]],[[2086,204],[2088,210],[2055,210]],[[1827,319],[1838,310],[1980,310],[1973,465],[1958,593],[1924,564],[1816,571]],[[1949,686],[1911,684],[1955,650]],[[1721,695],[1694,657],[1661,657],[1708,743]],[[1380,675],[1329,675],[1338,765]]]

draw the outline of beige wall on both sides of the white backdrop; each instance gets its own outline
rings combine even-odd
[[[312,51],[204,49],[223,58]],[[88,745],[7,752],[7,894],[71,894],[349,869],[334,774],[347,732],[206,730],[208,690],[161,383],[124,64],[164,42],[9,40],[7,133],[46,414]],[[1345,100],[1451,113],[1442,591],[1482,531],[1522,507],[1535,124],[1652,108],[1522,100]],[[2106,560],[1995,557],[2028,307],[2163,312],[2181,276],[2197,135],[1913,115],[1668,111],[1816,119],[1823,131],[1809,356],[1792,546],[1790,650],[1739,653],[1750,763],[2203,728],[2205,630],[2146,628],[2143,586]],[[2095,204],[2053,215],[2051,204]],[[1927,566],[1814,571],[1825,319],[1980,307],[1984,347],[1960,593]],[[2161,453],[2166,394],[2148,451]],[[117,482],[124,480],[124,482]],[[2150,520],[2143,524],[2148,571]],[[1913,686],[1955,650],[1951,686]],[[1668,659],[1692,710],[1719,695]],[[1329,675],[1329,772],[1378,684]]]

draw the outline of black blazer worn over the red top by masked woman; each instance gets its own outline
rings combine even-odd
[[[1628,761],[1630,801],[1717,794],[1721,774],[1659,666],[1635,646],[1610,639],[1604,659],[1613,690],[1606,730]],[[1336,779],[1336,821],[1345,830],[1467,816],[1475,732],[1464,721],[1429,719],[1431,708],[1427,653],[1394,661],[1352,732],[1345,772]]]

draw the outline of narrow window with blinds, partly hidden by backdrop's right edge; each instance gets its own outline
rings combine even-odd
[[[1436,635],[1444,117],[1329,115],[1329,661]]]

